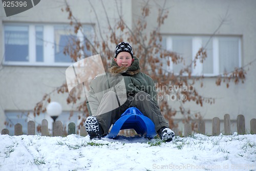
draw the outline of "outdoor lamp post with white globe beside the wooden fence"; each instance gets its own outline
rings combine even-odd
[[[62,107],[58,102],[53,101],[48,104],[48,106],[46,108],[46,112],[53,119],[53,124],[52,124],[52,135],[53,135],[54,134],[54,123],[55,123],[55,120],[57,119],[57,117],[62,113]]]

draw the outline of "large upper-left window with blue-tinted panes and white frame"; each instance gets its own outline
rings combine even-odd
[[[74,28],[66,25],[4,24],[4,64],[70,66],[73,61],[63,54],[65,46],[77,39],[85,45],[84,35],[93,38],[91,25],[83,26],[82,32],[75,34]],[[92,55],[86,48],[84,52]]]

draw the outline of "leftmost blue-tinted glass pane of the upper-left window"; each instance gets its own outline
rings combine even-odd
[[[5,26],[5,61],[29,61],[29,27]]]

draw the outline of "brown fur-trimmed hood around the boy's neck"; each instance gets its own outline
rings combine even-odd
[[[119,67],[116,63],[116,61],[114,60],[114,58],[112,58],[112,62],[111,62],[111,66],[109,68],[109,72],[112,75],[116,75],[116,74],[129,74],[129,75],[136,75],[138,73],[140,73],[140,62],[139,62],[139,58],[137,58],[136,56],[134,56],[134,61],[132,62],[132,65],[130,67]]]

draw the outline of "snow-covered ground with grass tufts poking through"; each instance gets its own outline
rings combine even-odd
[[[67,137],[0,135],[0,170],[256,170],[256,135]]]

